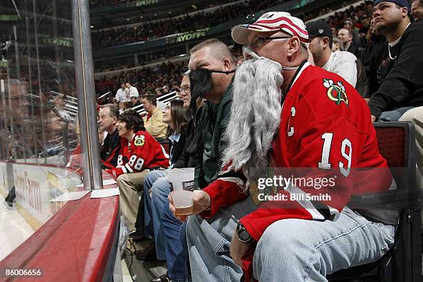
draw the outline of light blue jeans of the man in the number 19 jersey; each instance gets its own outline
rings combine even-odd
[[[229,256],[229,247],[238,215],[247,214],[247,208],[236,203],[210,220],[188,218],[193,281],[240,281],[243,272]],[[257,243],[254,277],[261,282],[327,281],[327,274],[379,259],[392,246],[394,234],[393,225],[373,223],[348,207],[333,221],[279,220]]]

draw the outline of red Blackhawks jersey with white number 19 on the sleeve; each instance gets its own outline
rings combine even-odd
[[[387,167],[386,160],[378,151],[368,106],[353,86],[339,75],[308,63],[301,66],[293,79],[283,102],[279,131],[270,150],[272,167],[315,168],[313,171],[335,168],[339,177],[335,187],[331,188],[332,200],[319,202],[320,207],[323,205],[327,209],[319,209],[311,202],[293,200],[284,208],[261,205],[241,218],[241,223],[255,241],[259,241],[265,229],[276,220],[330,219],[333,214],[341,212],[351,194],[358,194],[355,187],[363,186],[358,182],[366,181],[365,178],[348,180],[352,177],[352,169]],[[392,182],[391,174],[388,169],[381,171],[385,174],[378,178],[377,185],[388,189]],[[242,178],[223,174],[204,189],[212,198],[212,207],[201,215],[209,218],[220,207],[246,198],[245,190]],[[279,193],[290,194],[290,191]],[[251,274],[251,259],[252,254],[250,258],[244,257],[246,277]]]

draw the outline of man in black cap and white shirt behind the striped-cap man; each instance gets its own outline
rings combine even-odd
[[[314,64],[326,71],[340,75],[356,88],[361,96],[366,97],[368,86],[364,67],[359,63],[357,57],[350,52],[332,52],[332,30],[330,30],[328,23],[326,21],[310,21],[306,24],[306,27]],[[360,77],[357,75],[359,68]]]

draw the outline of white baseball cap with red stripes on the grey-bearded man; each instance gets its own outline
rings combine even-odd
[[[308,47],[310,40],[306,25],[297,17],[292,17],[289,12],[266,12],[252,24],[241,24],[232,28],[232,39],[238,44],[248,44],[251,32],[283,31],[288,35],[299,37],[300,41]]]

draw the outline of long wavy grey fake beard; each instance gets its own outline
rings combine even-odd
[[[223,135],[228,147],[222,159],[223,164],[232,163],[221,173],[266,167],[267,152],[281,121],[281,64],[248,48],[244,52],[252,59],[235,73],[231,117]]]

